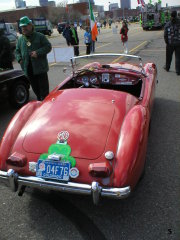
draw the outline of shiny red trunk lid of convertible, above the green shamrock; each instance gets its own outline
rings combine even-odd
[[[42,108],[27,126],[25,151],[45,153],[59,132],[68,131],[72,156],[96,159],[103,153],[114,115],[112,105],[75,101],[53,104],[51,111],[47,105]]]

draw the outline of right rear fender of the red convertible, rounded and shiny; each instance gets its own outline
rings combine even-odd
[[[123,122],[116,153],[114,186],[130,184],[133,188],[144,168],[148,137],[149,113],[135,106]]]

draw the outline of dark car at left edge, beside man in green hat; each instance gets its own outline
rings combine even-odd
[[[23,71],[0,69],[0,95],[7,95],[13,107],[20,108],[28,102],[29,87]]]

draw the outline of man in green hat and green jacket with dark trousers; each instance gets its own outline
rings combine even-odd
[[[51,51],[51,43],[47,38],[34,31],[32,21],[24,16],[19,21],[22,36],[16,45],[16,59],[28,77],[34,93],[39,101],[49,94],[49,70],[47,54]]]

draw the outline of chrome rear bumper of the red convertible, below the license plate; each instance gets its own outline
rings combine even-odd
[[[13,192],[17,190],[21,192],[28,186],[67,193],[92,195],[94,204],[98,204],[100,196],[122,199],[128,197],[131,193],[130,186],[123,188],[104,188],[99,186],[98,182],[92,182],[91,185],[73,182],[62,183],[38,177],[22,177],[12,169],[9,169],[8,172],[0,171],[0,182],[7,184]]]

